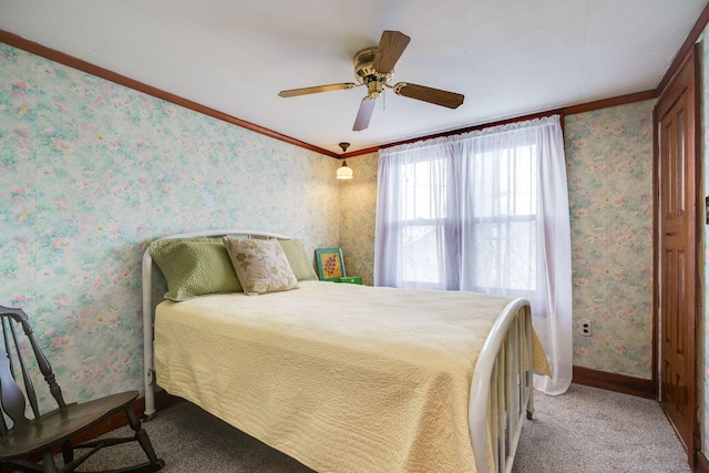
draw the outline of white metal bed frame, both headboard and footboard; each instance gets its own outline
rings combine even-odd
[[[240,238],[289,237],[260,230],[216,229],[191,232],[158,239],[236,236]],[[143,343],[145,415],[155,415],[155,364],[153,358],[153,258],[143,254]],[[526,299],[512,300],[493,326],[477,358],[469,401],[471,446],[479,472],[492,462],[496,473],[511,472],[525,417],[534,412],[532,364],[532,312]],[[506,370],[505,370],[506,368]],[[489,442],[493,456],[487,457]]]

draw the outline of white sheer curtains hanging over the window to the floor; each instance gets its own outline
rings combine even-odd
[[[552,369],[572,381],[572,269],[558,115],[379,152],[374,285],[524,297]]]

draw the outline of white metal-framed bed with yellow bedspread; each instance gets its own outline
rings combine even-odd
[[[278,241],[295,287],[254,296],[229,276],[176,292],[175,267],[182,284],[199,267],[194,286],[228,263],[239,273],[236,241]],[[178,244],[202,249],[162,249]],[[321,472],[511,471],[533,372],[548,372],[528,302],[319,281],[311,260],[299,240],[267,232],[154,241],[143,257],[145,414],[160,387]]]

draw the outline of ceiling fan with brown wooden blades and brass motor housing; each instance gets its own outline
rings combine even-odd
[[[367,95],[362,99],[362,103],[357,112],[357,119],[354,120],[354,126],[352,126],[352,130],[356,132],[366,130],[369,126],[369,121],[374,111],[376,100],[384,88],[392,89],[397,95],[421,100],[449,109],[458,109],[465,99],[462,94],[409,82],[399,82],[395,85],[389,85],[389,81],[394,75],[394,64],[399,61],[399,58],[401,58],[404,49],[407,49],[409,41],[411,41],[411,38],[400,31],[384,31],[381,34],[378,47],[366,48],[354,54],[354,78],[357,82],[291,89],[280,91],[278,95],[290,97],[367,85]]]

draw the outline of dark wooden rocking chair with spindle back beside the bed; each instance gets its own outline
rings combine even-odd
[[[165,465],[165,462],[155,455],[147,433],[131,409],[131,403],[137,398],[137,391],[66,404],[52,368],[34,339],[24,311],[0,306],[0,322],[3,342],[0,346],[0,402],[4,413],[0,414],[0,471],[9,469],[21,472],[73,472],[100,449],[135,441],[143,448],[147,461],[111,472],[154,472]],[[22,328],[25,337],[22,337],[22,332],[18,336],[18,326]],[[28,354],[30,357],[25,359]],[[35,366],[59,405],[59,409],[44,414],[40,413],[30,374]],[[28,402],[33,414],[31,419],[25,417]],[[133,436],[96,439],[76,445],[72,443],[72,439],[78,434],[119,412],[124,412],[127,417],[131,429],[135,432]],[[88,451],[74,457],[74,451],[79,449]],[[64,465],[58,470],[53,453],[59,451],[62,452]]]

